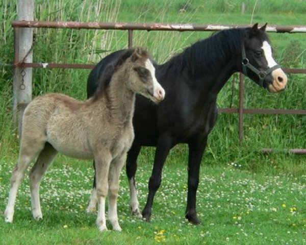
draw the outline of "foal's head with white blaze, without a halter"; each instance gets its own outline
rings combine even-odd
[[[155,67],[150,61],[148,53],[142,48],[136,47],[129,59],[131,89],[155,103],[162,101],[165,97],[165,90],[155,77]]]

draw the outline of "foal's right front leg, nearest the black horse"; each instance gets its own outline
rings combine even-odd
[[[121,227],[118,222],[118,214],[117,214],[117,198],[118,198],[118,190],[119,190],[119,176],[120,171],[125,163],[126,153],[121,156],[115,158],[110,165],[109,170],[109,192],[108,192],[108,208],[109,208],[109,220],[112,224],[113,230],[121,231]]]

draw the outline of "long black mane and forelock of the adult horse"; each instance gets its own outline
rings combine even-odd
[[[203,72],[211,74],[225,65],[233,55],[241,53],[241,45],[245,32],[250,28],[222,30],[206,39],[202,39],[187,47],[181,54],[172,57],[163,66],[172,67],[177,72],[187,68],[192,76],[200,76]],[[267,39],[260,31],[262,39]]]

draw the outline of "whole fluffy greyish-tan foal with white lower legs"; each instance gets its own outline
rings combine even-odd
[[[114,72],[114,73],[113,73]],[[112,75],[113,74],[113,75]],[[94,159],[96,166],[99,230],[107,230],[105,200],[113,230],[121,230],[117,217],[119,174],[134,139],[132,117],[135,94],[154,102],[164,99],[155,68],[146,51],[130,50],[101,78],[96,94],[85,102],[50,93],[37,97],[25,109],[19,159],[13,169],[5,221],[12,222],[17,189],[24,171],[37,158],[30,173],[31,205],[35,219],[42,218],[39,186],[58,152]]]

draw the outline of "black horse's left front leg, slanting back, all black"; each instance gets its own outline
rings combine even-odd
[[[149,179],[149,193],[147,197],[147,202],[142,211],[142,218],[146,221],[150,221],[153,199],[156,194],[156,191],[161,185],[162,168],[171,149],[171,146],[172,138],[168,134],[164,134],[163,136],[159,137],[155,151],[152,174]]]

